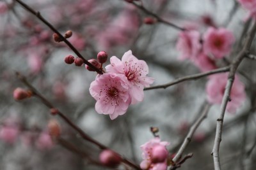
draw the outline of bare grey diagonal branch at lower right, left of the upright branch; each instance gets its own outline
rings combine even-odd
[[[189,143],[191,141],[191,138],[193,137],[193,134],[195,133],[196,129],[201,124],[201,122],[207,117],[207,113],[209,112],[210,108],[211,108],[211,104],[209,104],[209,103],[205,104],[204,110],[202,111],[202,114],[200,115],[200,117],[198,117],[196,122],[190,127],[186,138],[184,139],[182,145],[179,148],[179,151],[177,152],[175,157],[172,159],[174,166],[181,159],[182,154],[184,153],[184,150],[189,145]],[[172,167],[171,167],[171,169],[172,169]]]

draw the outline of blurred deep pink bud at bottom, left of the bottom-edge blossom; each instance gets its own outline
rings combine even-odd
[[[121,162],[121,157],[112,150],[103,150],[99,159],[104,166],[108,167],[116,167]]]

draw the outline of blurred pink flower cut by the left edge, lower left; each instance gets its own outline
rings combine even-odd
[[[19,136],[19,127],[17,126],[3,126],[0,129],[0,139],[6,143],[14,143]]]

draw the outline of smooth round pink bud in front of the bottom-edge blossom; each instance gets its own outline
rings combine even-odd
[[[157,145],[152,148],[152,162],[164,162],[168,156],[166,147],[163,145]]]

